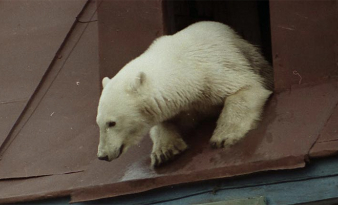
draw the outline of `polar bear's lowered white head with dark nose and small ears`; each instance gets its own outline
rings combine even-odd
[[[103,78],[96,117],[100,129],[99,159],[111,161],[118,158],[149,132],[150,120],[140,108],[144,84],[143,72],[133,77]]]

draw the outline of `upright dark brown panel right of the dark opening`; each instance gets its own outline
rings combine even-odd
[[[270,1],[275,89],[338,76],[336,1]]]

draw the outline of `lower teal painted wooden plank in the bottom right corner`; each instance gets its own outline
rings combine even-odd
[[[284,182],[242,189],[219,190],[217,194],[204,193],[195,196],[153,204],[196,204],[209,201],[234,200],[265,195],[267,204],[295,204],[338,197],[338,177],[316,178]]]

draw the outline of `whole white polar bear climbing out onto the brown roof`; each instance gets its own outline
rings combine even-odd
[[[181,128],[219,114],[213,148],[254,129],[272,93],[272,68],[230,27],[195,23],[157,38],[112,79],[102,80],[97,111],[98,158],[111,161],[150,132],[151,165],[187,149]]]

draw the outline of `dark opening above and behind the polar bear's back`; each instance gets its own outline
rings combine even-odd
[[[272,63],[269,1],[166,1],[167,33],[202,20],[224,23],[261,48]]]

